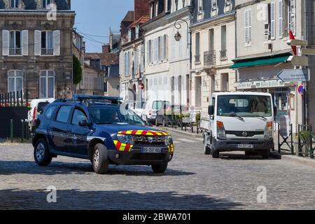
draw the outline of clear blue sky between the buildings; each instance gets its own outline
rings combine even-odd
[[[85,38],[86,52],[102,52],[102,43],[109,43],[109,29],[120,31],[120,22],[128,10],[134,10],[133,0],[73,0],[76,11],[73,28]]]

